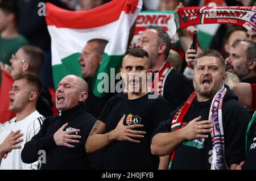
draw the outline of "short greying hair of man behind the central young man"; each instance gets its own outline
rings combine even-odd
[[[166,44],[166,50],[164,51],[164,54],[166,55],[166,58],[169,55],[169,51],[171,49],[171,37],[168,35],[168,33],[161,27],[158,26],[148,26],[147,29],[153,29],[158,32],[158,45],[160,43],[165,43]]]

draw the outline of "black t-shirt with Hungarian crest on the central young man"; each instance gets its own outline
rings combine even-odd
[[[150,137],[159,121],[168,119],[170,104],[162,96],[148,99],[148,95],[129,100],[127,94],[118,94],[109,100],[98,120],[106,124],[106,132],[110,132],[126,115],[124,125],[143,124],[135,130],[145,131],[144,138],[134,144],[129,141],[114,141],[105,149],[104,169],[157,169],[159,157],[151,154]],[[130,122],[129,122],[130,121]]]

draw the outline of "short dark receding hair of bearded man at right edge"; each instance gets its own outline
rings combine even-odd
[[[237,47],[238,44],[247,44],[247,49],[246,49],[246,58],[247,61],[253,60],[256,58],[256,43],[254,41],[249,41],[249,40],[243,40],[243,41],[235,41],[232,44],[232,47],[235,48]],[[256,66],[254,67],[254,71],[256,71]]]

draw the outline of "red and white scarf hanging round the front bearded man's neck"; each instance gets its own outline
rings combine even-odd
[[[224,95],[226,94],[226,88],[222,86],[221,90],[218,91],[212,100],[210,111],[209,111],[209,120],[212,122],[212,165],[210,169],[212,170],[223,170],[227,169],[224,157],[224,131],[222,125],[222,102]],[[193,101],[196,98],[196,91],[192,92],[185,104],[176,112],[174,119],[172,120],[171,132],[179,130],[181,123],[191,107]],[[170,162],[168,169],[172,168],[172,161],[175,158],[175,151],[170,156]]]

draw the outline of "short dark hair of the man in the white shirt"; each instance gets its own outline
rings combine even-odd
[[[15,77],[15,80],[18,81],[20,79],[26,79],[30,85],[36,87],[38,97],[43,91],[43,83],[40,79],[40,77],[34,73],[20,73]]]

